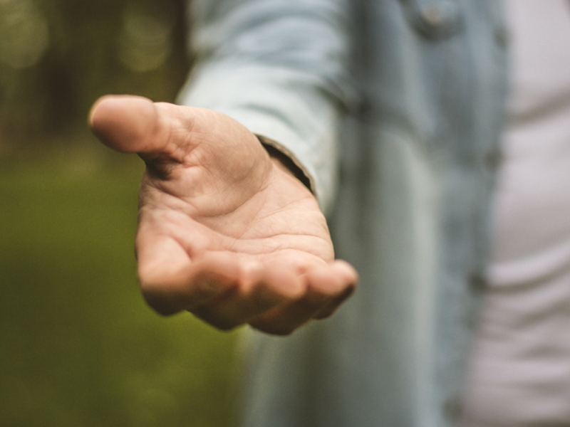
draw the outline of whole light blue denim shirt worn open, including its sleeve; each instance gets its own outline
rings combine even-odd
[[[180,95],[274,140],[361,275],[329,320],[249,335],[247,427],[439,427],[484,289],[507,38],[495,0],[193,0]]]

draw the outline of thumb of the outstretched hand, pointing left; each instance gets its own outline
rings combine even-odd
[[[119,152],[165,152],[172,126],[154,102],[133,95],[100,97],[89,113],[89,125],[103,144]]]

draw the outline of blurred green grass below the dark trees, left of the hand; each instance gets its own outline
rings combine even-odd
[[[142,162],[81,149],[0,156],[0,425],[222,427],[236,333],[140,297]]]

